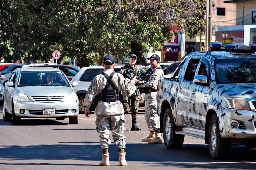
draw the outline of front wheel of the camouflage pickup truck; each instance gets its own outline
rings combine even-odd
[[[223,158],[230,150],[230,140],[222,139],[217,115],[214,114],[210,121],[209,127],[209,149],[213,159]]]

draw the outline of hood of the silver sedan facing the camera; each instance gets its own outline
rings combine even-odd
[[[18,87],[19,91],[28,97],[31,96],[65,96],[73,92],[71,87],[64,86],[27,86]]]

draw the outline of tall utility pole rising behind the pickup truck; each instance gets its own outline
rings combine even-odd
[[[212,0],[206,0],[206,32],[205,32],[205,51],[212,41]]]

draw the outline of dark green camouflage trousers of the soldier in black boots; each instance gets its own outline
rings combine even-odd
[[[132,109],[132,118],[137,118],[138,114],[138,107],[139,107],[139,96],[136,93],[133,93],[130,97],[123,96],[123,107],[124,107],[124,114],[128,114],[130,111],[130,107]]]

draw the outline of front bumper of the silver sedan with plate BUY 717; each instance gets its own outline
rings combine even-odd
[[[43,108],[55,108],[55,115],[43,115]],[[23,109],[25,112],[20,113]],[[72,113],[72,109],[76,112]],[[41,113],[40,113],[41,112]],[[24,118],[56,118],[56,117],[73,117],[77,116],[79,113],[78,101],[68,101],[68,102],[21,102],[14,101],[14,113],[16,116],[21,116]]]

